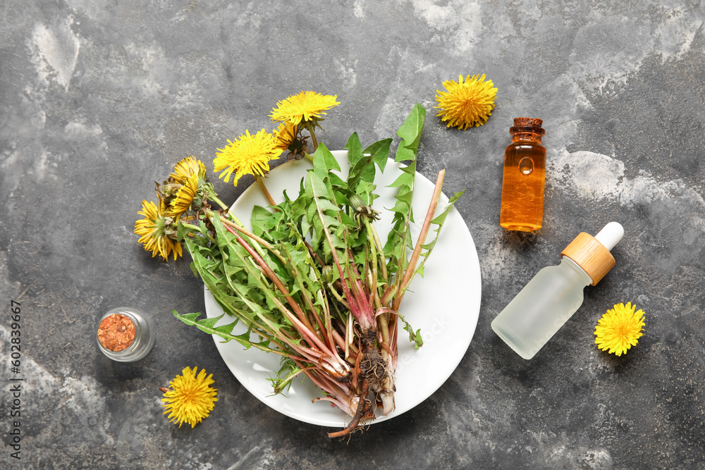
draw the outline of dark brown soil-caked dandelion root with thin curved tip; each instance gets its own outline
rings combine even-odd
[[[388,376],[389,371],[386,369],[386,363],[382,359],[381,354],[374,345],[376,339],[376,331],[374,328],[367,330],[360,337],[360,352],[362,359],[356,364],[353,371],[353,377],[357,375],[357,386],[355,397],[358,398],[357,409],[353,415],[353,420],[348,426],[334,433],[329,433],[329,438],[338,438],[355,431],[360,421],[364,419],[374,419],[374,409],[376,408],[376,399],[368,397],[372,390],[379,389],[379,385],[383,383]]]

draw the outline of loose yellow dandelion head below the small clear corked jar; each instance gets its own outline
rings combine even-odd
[[[171,413],[168,419],[171,423],[178,423],[178,427],[187,423],[193,428],[208,417],[213,403],[218,401],[218,390],[209,386],[213,383],[213,374],[206,377],[206,371],[201,369],[196,375],[197,369],[183,369],[183,376],[176,376],[169,382],[171,390],[164,392],[161,399],[164,402],[161,406],[166,408],[164,414]]]

